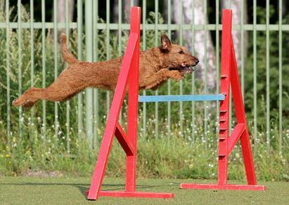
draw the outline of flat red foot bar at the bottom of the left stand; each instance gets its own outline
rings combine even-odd
[[[86,191],[86,196],[89,191]],[[173,193],[155,193],[155,192],[124,192],[124,191],[101,191],[100,197],[135,197],[135,198],[174,198]],[[96,200],[96,199],[89,199]]]

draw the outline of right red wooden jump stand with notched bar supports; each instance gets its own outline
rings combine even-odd
[[[221,37],[221,94],[225,99],[220,102],[219,110],[219,159],[218,159],[218,183],[210,184],[181,184],[184,189],[213,189],[213,190],[265,190],[266,187],[257,185],[255,169],[249,139],[249,131],[245,117],[240,79],[236,64],[236,56],[232,39],[232,11],[223,10]],[[233,95],[233,104],[236,112],[237,125],[229,136],[229,103],[230,84]],[[240,139],[242,147],[245,172],[248,185],[228,184],[228,158],[236,143]]]

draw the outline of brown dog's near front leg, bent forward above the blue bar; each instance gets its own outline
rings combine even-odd
[[[167,79],[175,79],[179,81],[180,79],[184,79],[184,75],[181,74],[181,72],[179,72],[178,70],[162,69],[154,73],[153,75],[150,75],[150,77],[146,79],[146,85],[144,86],[144,88],[152,88],[153,90],[156,90],[158,86],[167,81]]]

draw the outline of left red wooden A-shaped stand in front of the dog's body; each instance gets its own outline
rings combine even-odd
[[[98,160],[91,186],[86,192],[89,200],[96,200],[98,197],[146,197],[146,198],[172,198],[172,193],[136,192],[136,135],[138,120],[139,100],[139,41],[141,25],[141,8],[131,8],[131,33],[127,50],[125,51],[120,75],[118,77],[115,95],[110,107],[110,114],[105,126],[101,149],[98,153]],[[120,109],[124,100],[124,94],[129,88],[129,109],[127,119],[127,133],[124,133],[122,126],[118,123]],[[108,164],[113,137],[116,136],[120,145],[127,154],[127,178],[125,191],[101,191],[105,168]]]

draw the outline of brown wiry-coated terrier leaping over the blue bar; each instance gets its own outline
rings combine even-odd
[[[37,100],[68,100],[88,87],[115,90],[123,57],[104,62],[79,61],[68,51],[65,34],[61,37],[63,59],[69,66],[47,88],[32,87],[25,91],[13,101],[14,106],[32,107]],[[156,90],[167,79],[184,79],[184,74],[193,72],[199,62],[186,48],[172,44],[165,34],[162,34],[161,43],[160,47],[140,53],[140,90]]]

